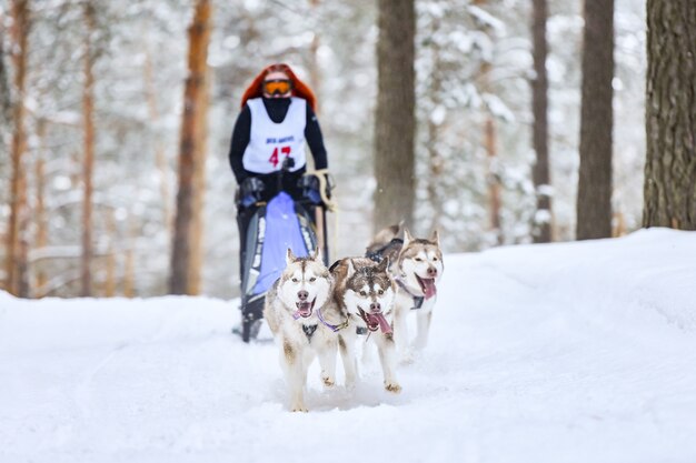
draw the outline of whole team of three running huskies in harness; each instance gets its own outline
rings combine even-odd
[[[340,351],[346,387],[355,386],[360,334],[377,345],[385,389],[400,392],[396,364],[397,352],[404,355],[409,348],[407,316],[417,318],[414,348],[425,348],[444,268],[437,231],[418,239],[404,230],[400,240],[399,229],[382,230],[366,256],[341,259],[330,269],[318,251],[297,258],[288,249],[287,266],[266,294],[264,318],[280,348],[294,412],[307,411],[307,370],[315,356],[324,384],[331,386]]]

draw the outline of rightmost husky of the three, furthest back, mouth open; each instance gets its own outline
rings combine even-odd
[[[404,240],[400,240],[397,238],[400,228],[399,224],[380,231],[367,248],[366,255],[376,262],[387,259],[391,262],[389,273],[398,288],[394,303],[394,336],[400,354],[408,356],[407,315],[411,310],[417,313],[414,348],[421,350],[428,343],[444,264],[437,231],[429,239],[420,239],[404,229]]]

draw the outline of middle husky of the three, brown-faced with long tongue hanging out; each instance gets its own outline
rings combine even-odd
[[[365,258],[342,259],[331,265],[335,312],[348,320],[348,326],[338,332],[338,345],[349,389],[356,381],[357,331],[361,330],[377,344],[385,389],[401,391],[396,378],[396,346],[390,323],[396,284],[387,273],[388,265],[388,259],[376,263]]]

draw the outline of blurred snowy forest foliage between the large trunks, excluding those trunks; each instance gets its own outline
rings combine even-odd
[[[21,93],[23,295],[167,293],[190,63],[187,30],[196,2],[32,1],[21,92],[13,85],[13,3],[0,1],[0,145],[10,151],[12,108]],[[197,278],[188,292],[231,298],[238,293],[239,249],[230,137],[241,93],[269,63],[290,64],[318,95],[337,183],[338,212],[329,214],[331,258],[361,254],[369,242],[377,188],[378,6],[371,0],[212,3],[206,143],[198,154],[205,169],[196,177],[203,185],[195,207],[201,212]],[[645,2],[615,4],[612,223],[619,235],[642,224],[647,64]],[[539,218],[544,211],[537,210],[533,181],[533,2],[418,0],[415,6],[415,234],[438,229],[446,252],[479,251],[531,242],[541,219],[551,224],[554,241],[575,239],[583,2],[548,1],[548,218]],[[93,161],[86,158],[88,143]],[[91,162],[93,170],[86,170]],[[3,243],[11,172],[10,157],[0,155]],[[93,194],[86,292],[81,242],[88,184]],[[7,253],[0,259],[4,281]]]

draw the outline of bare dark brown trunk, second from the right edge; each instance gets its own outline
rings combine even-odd
[[[614,0],[585,1],[577,239],[612,236]]]

